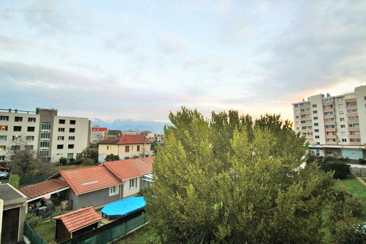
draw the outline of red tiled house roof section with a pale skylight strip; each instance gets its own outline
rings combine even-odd
[[[61,170],[60,174],[75,195],[123,183],[105,165]]]

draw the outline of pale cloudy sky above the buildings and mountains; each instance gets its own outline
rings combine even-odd
[[[366,85],[366,1],[0,3],[0,109],[168,122]]]

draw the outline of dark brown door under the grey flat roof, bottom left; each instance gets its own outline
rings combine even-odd
[[[1,227],[1,243],[18,242],[19,207],[3,211],[3,225]]]

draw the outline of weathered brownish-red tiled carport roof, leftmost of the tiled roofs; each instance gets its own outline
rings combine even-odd
[[[60,179],[51,179],[35,185],[31,185],[29,187],[19,189],[19,191],[26,195],[27,199],[31,199],[53,191],[57,191],[65,187],[68,187],[66,181]]]

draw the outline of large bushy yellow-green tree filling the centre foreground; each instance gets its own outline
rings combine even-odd
[[[184,107],[169,119],[146,195],[149,223],[166,243],[323,239],[324,209],[336,201],[333,174],[300,168],[305,138],[290,122],[265,115],[253,126],[233,110],[208,120]]]

